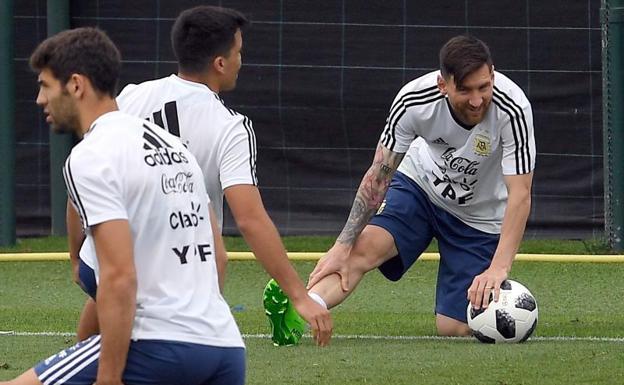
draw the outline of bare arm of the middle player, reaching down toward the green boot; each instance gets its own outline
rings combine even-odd
[[[258,188],[251,184],[239,184],[226,188],[224,193],[238,229],[256,259],[279,283],[299,314],[310,323],[317,344],[327,345],[333,327],[329,311],[308,296],[305,285],[288,260]]]

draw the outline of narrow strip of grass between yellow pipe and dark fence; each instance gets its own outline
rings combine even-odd
[[[249,247],[241,237],[225,237],[225,245],[229,251],[249,251]],[[288,251],[327,251],[334,243],[335,237],[330,236],[292,236],[283,237]],[[434,242],[427,249],[437,251]],[[18,239],[15,246],[0,247],[0,253],[35,253],[67,251],[65,237],[42,237]],[[525,240],[520,246],[520,253],[528,254],[614,254],[603,239],[588,240]]]

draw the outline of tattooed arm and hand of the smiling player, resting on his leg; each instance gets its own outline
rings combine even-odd
[[[355,240],[383,202],[390,187],[392,176],[404,156],[405,153],[391,151],[381,143],[377,145],[373,164],[362,178],[347,223],[336,239],[334,246],[321,258],[310,274],[308,287],[314,286],[327,275],[338,273],[342,289],[344,291],[349,290],[345,261]]]

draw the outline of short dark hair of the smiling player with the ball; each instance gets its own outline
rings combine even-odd
[[[460,85],[466,76],[487,64],[492,69],[490,49],[473,36],[455,36],[440,49],[440,71],[445,79],[453,76]]]

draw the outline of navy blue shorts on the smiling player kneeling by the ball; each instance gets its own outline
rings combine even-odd
[[[416,182],[400,172],[392,178],[380,211],[370,224],[392,235],[399,254],[379,270],[386,278],[399,280],[435,237],[440,251],[435,312],[466,322],[468,288],[490,266],[499,235],[470,227],[434,205]]]

